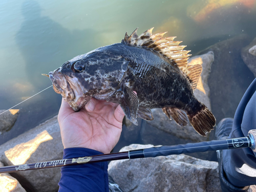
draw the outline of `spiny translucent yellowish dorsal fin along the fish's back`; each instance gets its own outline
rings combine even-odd
[[[128,36],[127,32],[124,35],[122,43],[132,46],[147,47],[159,52],[166,57],[174,66],[177,66],[188,78],[193,90],[197,88],[197,82],[202,72],[201,65],[187,65],[187,59],[190,56],[188,52],[183,50],[186,46],[179,46],[182,41],[174,41],[175,37],[165,37],[163,35],[167,32],[157,33],[152,35],[152,30],[148,29],[138,36],[137,29]]]

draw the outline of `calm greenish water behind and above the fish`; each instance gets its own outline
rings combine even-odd
[[[0,110],[49,87],[50,79],[41,73],[120,42],[126,31],[131,34],[137,27],[138,33],[152,27],[153,33],[168,31],[192,54],[239,34],[255,37],[254,1],[234,0],[237,3],[218,9],[215,5],[212,12],[196,16],[208,2],[1,0]],[[48,89],[17,106],[18,119],[12,130],[0,135],[0,144],[56,115],[60,102],[61,96]]]

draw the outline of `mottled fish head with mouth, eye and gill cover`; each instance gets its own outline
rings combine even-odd
[[[94,50],[63,63],[49,77],[54,91],[79,111],[92,97],[109,101],[128,63],[121,56]]]

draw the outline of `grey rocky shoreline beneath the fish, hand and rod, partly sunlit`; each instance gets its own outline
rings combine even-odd
[[[256,39],[250,42],[247,36],[242,35],[219,42],[189,59],[191,63],[202,62],[203,89],[196,90],[195,96],[211,109],[217,122],[233,116],[249,81],[256,76],[255,50]],[[248,75],[243,72],[250,73],[249,80],[244,79]],[[238,94],[233,96],[235,92]],[[161,109],[152,112],[154,121],[140,121],[141,126],[136,127],[126,121],[123,126],[121,140],[135,142],[140,138],[146,145],[132,144],[121,151],[157,144],[172,145],[178,140],[185,143],[214,139],[214,132],[201,137],[190,124],[180,127],[170,121]],[[3,119],[0,121],[4,122]],[[1,129],[8,131],[13,123]],[[215,156],[215,152],[206,153],[208,157]],[[0,161],[3,163],[0,166],[58,160],[62,155],[63,146],[55,116],[0,145]],[[221,191],[218,163],[195,157],[201,158],[182,154],[113,161],[109,164],[109,174],[124,191]],[[54,192],[58,190],[59,179],[60,167],[0,174],[0,187],[5,187],[5,191]],[[256,191],[256,187],[251,186],[249,191]]]

